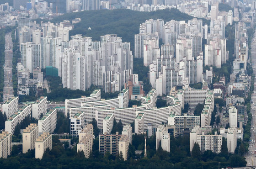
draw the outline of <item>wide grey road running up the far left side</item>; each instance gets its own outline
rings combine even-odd
[[[13,97],[13,85],[12,85],[12,48],[13,43],[11,40],[11,32],[5,34],[5,65],[4,65],[4,100],[8,100]]]

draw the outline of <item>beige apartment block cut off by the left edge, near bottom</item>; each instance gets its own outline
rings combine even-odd
[[[11,155],[11,134],[8,132],[0,133],[0,158],[7,158]]]

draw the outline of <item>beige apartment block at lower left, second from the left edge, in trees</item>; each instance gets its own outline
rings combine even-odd
[[[27,153],[30,149],[35,149],[35,143],[38,138],[37,124],[30,124],[22,132],[22,153]]]

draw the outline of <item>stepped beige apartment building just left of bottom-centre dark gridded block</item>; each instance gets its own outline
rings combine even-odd
[[[90,153],[92,152],[92,146],[93,146],[93,135],[86,135],[81,140],[79,140],[79,143],[77,143],[77,152],[83,151],[85,154],[85,158],[89,158]]]

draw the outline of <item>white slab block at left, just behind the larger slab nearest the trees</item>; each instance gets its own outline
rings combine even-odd
[[[47,97],[41,97],[34,104],[32,104],[32,117],[39,119],[41,114],[45,115],[47,113]]]

